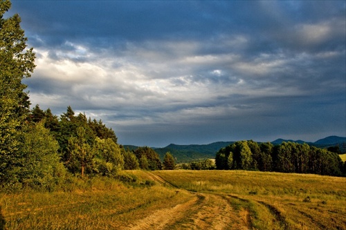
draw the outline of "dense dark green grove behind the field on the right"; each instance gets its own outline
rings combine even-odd
[[[215,164],[217,169],[226,170],[345,175],[346,162],[329,150],[294,142],[274,146],[269,142],[239,141],[221,148],[215,155]]]

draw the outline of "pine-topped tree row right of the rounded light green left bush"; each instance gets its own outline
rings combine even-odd
[[[161,163],[158,154],[147,146],[134,151],[118,144],[118,137],[100,119],[86,119],[86,115],[75,112],[71,106],[58,118],[38,105],[29,115],[31,122],[44,124],[60,146],[60,161],[71,173],[90,175],[115,175],[119,170],[159,170],[174,169],[173,156],[167,152]]]

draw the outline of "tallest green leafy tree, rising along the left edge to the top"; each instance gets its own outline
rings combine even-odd
[[[3,18],[10,7],[10,1],[0,0],[0,182],[12,178],[10,171],[19,164],[22,128],[30,106],[21,80],[35,68],[35,54],[33,48],[26,48],[19,15]]]

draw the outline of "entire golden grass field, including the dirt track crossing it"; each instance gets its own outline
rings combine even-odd
[[[0,193],[0,229],[346,229],[346,178],[252,171],[122,174],[136,180],[75,179],[64,191]]]

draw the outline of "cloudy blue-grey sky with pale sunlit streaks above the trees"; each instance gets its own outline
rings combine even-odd
[[[346,137],[345,1],[12,1],[32,106],[119,144]]]

